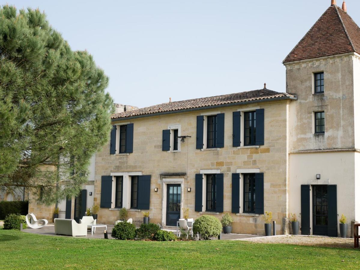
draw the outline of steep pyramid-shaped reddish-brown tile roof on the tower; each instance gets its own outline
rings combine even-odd
[[[283,63],[347,52],[360,54],[360,28],[337,5],[330,6]]]

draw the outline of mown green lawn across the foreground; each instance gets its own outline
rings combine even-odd
[[[360,251],[243,241],[145,242],[0,229],[0,269],[359,269]],[[342,261],[344,260],[344,261]]]

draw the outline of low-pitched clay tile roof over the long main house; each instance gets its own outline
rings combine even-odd
[[[233,104],[246,101],[255,101],[255,100],[266,100],[274,99],[278,97],[295,97],[288,93],[279,93],[271,91],[268,89],[253,90],[241,93],[234,93],[221,96],[213,97],[204,97],[201,99],[190,99],[183,101],[174,101],[163,103],[159,105],[154,105],[150,107],[145,107],[133,111],[125,111],[123,113],[113,114],[111,119],[127,118],[132,116],[156,114],[156,113],[165,113],[170,111],[181,111],[195,108],[205,108],[210,106]]]

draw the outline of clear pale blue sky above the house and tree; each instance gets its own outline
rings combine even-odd
[[[341,6],[342,0],[337,0]],[[11,0],[45,10],[73,50],[110,77],[114,101],[163,102],[267,88],[285,92],[282,61],[331,0]],[[347,0],[360,24],[360,1]]]

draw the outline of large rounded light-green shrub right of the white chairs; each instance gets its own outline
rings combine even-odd
[[[210,215],[203,215],[196,219],[193,225],[194,234],[199,234],[200,238],[210,240],[221,233],[221,223],[219,219]]]

